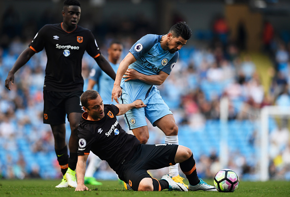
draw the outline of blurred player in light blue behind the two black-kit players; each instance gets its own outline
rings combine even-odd
[[[110,43],[108,48],[108,61],[115,72],[118,70],[118,61],[122,52],[123,45],[121,42],[114,40]],[[95,65],[90,72],[87,90],[92,90],[95,84],[98,85],[97,91],[102,95],[104,104],[117,104],[117,102],[111,101],[114,80],[104,73],[97,65]],[[90,154],[89,164],[84,175],[84,184],[102,185],[102,183],[97,181],[94,177],[96,170],[100,167],[101,161],[102,160],[95,154]]]

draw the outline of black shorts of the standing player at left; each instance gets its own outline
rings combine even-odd
[[[54,92],[43,90],[43,123],[64,124],[65,115],[72,112],[83,113],[81,95],[83,91]]]

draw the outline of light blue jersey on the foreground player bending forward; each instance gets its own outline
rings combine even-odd
[[[130,64],[128,68],[145,75],[158,75],[160,71],[169,75],[179,57],[179,53],[177,51],[171,54],[169,51],[163,50],[160,45],[161,38],[162,35],[147,34],[139,39],[129,50],[136,61]],[[121,81],[121,87],[126,87],[125,83],[131,83],[131,89],[136,91],[136,94],[146,93],[152,86],[139,79],[126,82],[124,80],[125,78]],[[139,91],[136,89],[139,89]],[[140,89],[142,90],[140,91]]]

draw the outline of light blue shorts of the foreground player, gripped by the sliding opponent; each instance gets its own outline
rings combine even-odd
[[[156,86],[152,85],[149,90],[142,91],[136,89],[136,86],[122,87],[122,95],[119,98],[119,103],[128,104],[134,100],[141,99],[146,107],[140,109],[131,109],[124,114],[124,119],[130,130],[138,127],[146,126],[145,117],[151,122],[153,126],[156,126],[154,122],[168,114],[172,114],[167,104],[162,99],[159,90]],[[127,88],[126,88],[127,86]],[[140,87],[140,86],[139,86]],[[128,91],[129,90],[129,91]]]

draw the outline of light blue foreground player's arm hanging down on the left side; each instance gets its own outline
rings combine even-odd
[[[126,70],[128,69],[129,65],[131,63],[134,63],[135,61],[136,59],[131,53],[128,53],[126,57],[121,61],[119,68],[117,70],[116,79],[112,90],[112,101],[114,99],[116,100],[117,103],[119,103],[118,98],[122,94],[122,89],[120,87],[122,77],[125,74]]]

